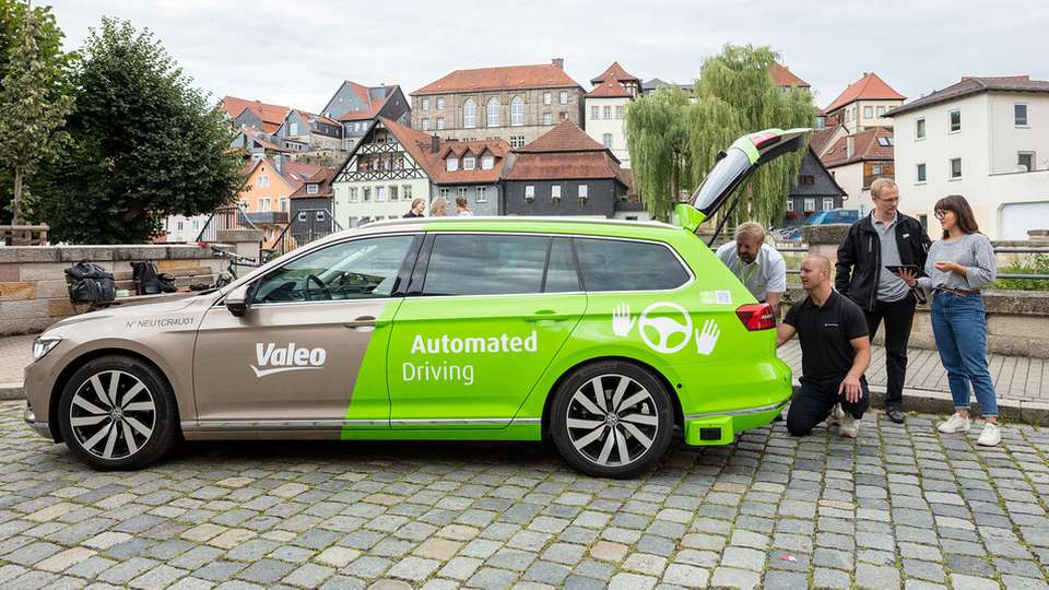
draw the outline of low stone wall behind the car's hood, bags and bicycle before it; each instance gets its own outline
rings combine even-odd
[[[189,276],[207,268],[221,272],[225,260],[192,245],[144,246],[12,246],[0,247],[0,335],[39,332],[51,323],[86,310],[69,302],[66,269],[87,260],[119,280],[132,261],[152,260],[160,272]]]

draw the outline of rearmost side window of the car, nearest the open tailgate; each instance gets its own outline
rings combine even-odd
[[[660,244],[591,238],[575,243],[588,292],[665,291],[688,281],[677,257]]]

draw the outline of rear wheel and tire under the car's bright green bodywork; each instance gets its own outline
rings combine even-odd
[[[622,361],[594,363],[557,388],[549,428],[561,456],[578,471],[636,477],[667,455],[674,406],[650,370]]]

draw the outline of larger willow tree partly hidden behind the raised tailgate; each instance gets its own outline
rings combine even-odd
[[[769,68],[778,59],[768,47],[726,45],[721,54],[704,61],[688,126],[696,185],[735,138],[771,127],[812,126],[812,95],[803,88],[783,92],[773,83]],[[740,201],[729,221],[782,220],[803,156],[804,151],[787,154],[751,176],[739,189]]]

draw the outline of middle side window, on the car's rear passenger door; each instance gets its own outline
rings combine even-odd
[[[434,237],[423,295],[541,293],[550,238],[506,234]]]

